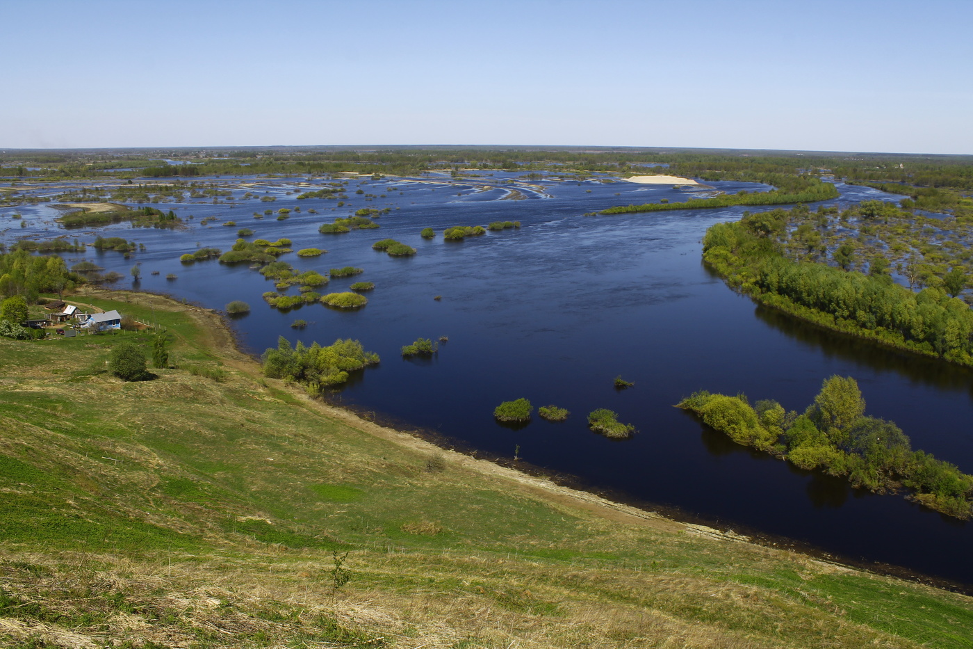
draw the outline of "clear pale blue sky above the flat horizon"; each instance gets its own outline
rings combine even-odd
[[[973,154],[973,0],[0,0],[0,148]]]

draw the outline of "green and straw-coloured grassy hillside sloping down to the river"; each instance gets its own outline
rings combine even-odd
[[[262,379],[212,314],[90,301],[173,367],[0,338],[0,645],[973,646],[968,597],[440,451]]]

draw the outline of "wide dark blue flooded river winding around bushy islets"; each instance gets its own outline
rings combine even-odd
[[[348,198],[337,208],[334,200],[297,200],[308,189],[307,178],[205,179],[233,197],[215,205],[211,199],[154,204],[175,210],[187,219],[187,228],[119,224],[73,231],[69,237],[86,242],[95,234],[121,236],[147,249],[127,260],[93,248],[67,258],[73,264],[87,257],[122,273],[119,287],[131,285],[128,271],[137,261],[142,280],[136,286],[143,290],[214,309],[231,300],[248,302],[251,313],[234,320],[234,327],[254,354],[276,345],[281,335],[306,344],[360,340],[378,352],[381,363],[353,376],[332,399],[379,421],[438,436],[480,457],[509,460],[518,451],[524,463],[573,477],[582,486],[720,529],[778,543],[788,539],[850,561],[902,566],[973,588],[968,557],[973,524],[901,495],[873,495],[842,479],[797,470],[732,443],[672,407],[704,389],[743,392],[751,401],[775,399],[800,411],[825,378],[853,376],[868,414],[896,422],[914,448],[973,471],[970,371],[795,323],[707,272],[700,245],[705,229],[739,218],[742,209],[585,215],[613,205],[681,201],[689,194],[670,185],[527,179],[523,173],[482,174],[468,182],[452,181],[448,174],[348,180]],[[712,184],[730,192],[761,189]],[[364,193],[355,194],[357,189]],[[897,198],[862,187],[839,189],[843,205]],[[243,199],[246,191],[255,197]],[[276,200],[261,202],[261,196]],[[504,198],[510,196],[523,200]],[[362,207],[391,211],[375,230],[318,234],[322,222]],[[302,211],[278,221],[280,208]],[[253,217],[266,209],[274,214]],[[24,227],[10,218],[13,212],[22,214]],[[63,234],[53,221],[57,213],[45,204],[2,209],[3,240]],[[200,225],[206,216],[218,220]],[[228,220],[236,225],[223,226]],[[521,221],[522,227],[462,243],[442,238],[445,227],[495,220]],[[426,226],[436,230],[435,239],[419,237]],[[246,264],[178,261],[198,246],[229,249],[242,227],[254,230],[251,239],[287,237],[295,250],[329,250],[316,258],[282,257],[300,270],[363,268],[362,275],[333,280],[321,292],[374,282],[368,305],[341,312],[313,304],[281,313],[261,298],[272,284]],[[384,238],[418,251],[393,258],[371,248]],[[166,280],[170,273],[177,279]],[[309,325],[292,329],[297,319]],[[441,335],[449,342],[431,360],[402,359],[403,345]],[[634,387],[616,391],[613,379],[619,374]],[[498,425],[493,408],[521,397],[535,407],[566,407],[571,416],[550,423],[535,414],[520,430]],[[599,407],[633,424],[634,437],[612,440],[592,433],[586,415]]]

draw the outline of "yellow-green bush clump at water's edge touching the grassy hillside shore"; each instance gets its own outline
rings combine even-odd
[[[292,348],[283,336],[276,349],[269,349],[262,357],[264,374],[306,385],[310,394],[318,395],[329,387],[348,380],[348,372],[378,363],[378,354],[366,352],[357,340],[336,340],[329,347],[316,342],[305,347],[298,342]]]

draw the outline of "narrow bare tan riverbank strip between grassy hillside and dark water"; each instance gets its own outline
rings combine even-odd
[[[721,531],[712,526],[712,521],[689,515],[675,508],[667,508],[646,502],[623,502],[623,494],[615,494],[605,489],[578,488],[568,483],[578,483],[574,476],[557,474],[523,461],[512,462],[508,458],[486,459],[476,457],[477,450],[454,443],[440,434],[420,430],[405,431],[370,421],[342,405],[308,397],[306,392],[293,383],[269,379],[256,355],[240,346],[239,339],[229,324],[225,314],[198,304],[185,304],[165,293],[134,291],[126,289],[88,289],[84,295],[119,301],[120,296],[154,298],[158,304],[173,311],[189,315],[200,330],[207,335],[207,346],[214,354],[223,357],[235,369],[250,375],[255,380],[264,380],[274,388],[290,394],[302,407],[318,414],[335,419],[365,435],[384,439],[418,452],[438,452],[446,455],[454,466],[489,477],[498,477],[513,482],[527,493],[548,498],[555,503],[575,507],[592,515],[624,524],[637,524],[673,533],[687,533],[718,541],[745,543],[784,553],[804,554],[810,560],[837,567],[843,570],[876,574],[903,579],[949,592],[973,596],[973,585],[955,582],[942,577],[926,575],[904,566],[891,565],[876,561],[855,560],[851,557],[830,554],[811,544],[784,536],[775,536],[735,525],[735,529]],[[375,417],[375,413],[371,413]],[[692,415],[690,415],[692,416]],[[516,464],[517,466],[510,466]],[[651,509],[648,509],[651,508]],[[663,514],[660,511],[664,512]],[[709,522],[710,524],[705,524]]]

